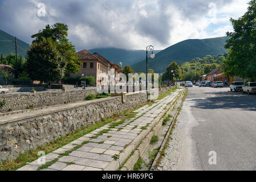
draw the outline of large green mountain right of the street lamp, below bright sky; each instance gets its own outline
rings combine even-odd
[[[224,45],[227,39],[229,38],[224,36],[212,39],[184,40],[157,53],[155,59],[149,59],[148,69],[153,69],[155,73],[162,73],[173,61],[177,61],[181,65],[194,57],[202,58],[207,55],[215,56],[226,53]],[[146,72],[146,60],[133,64],[131,67],[135,72]]]

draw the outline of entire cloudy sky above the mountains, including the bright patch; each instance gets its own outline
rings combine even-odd
[[[31,43],[47,24],[67,24],[77,51],[164,49],[186,39],[225,36],[249,0],[0,0],[0,29]]]

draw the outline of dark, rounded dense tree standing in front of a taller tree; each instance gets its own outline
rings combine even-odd
[[[35,42],[27,51],[26,71],[32,80],[55,81],[64,77],[66,63],[51,38]]]

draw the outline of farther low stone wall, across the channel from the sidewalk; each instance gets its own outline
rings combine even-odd
[[[36,92],[36,94],[30,92],[1,94],[0,102],[6,100],[6,104],[2,107],[0,106],[0,113],[6,113],[10,111],[10,108],[12,111],[24,110],[27,109],[27,106],[32,104],[34,107],[44,107],[83,101],[90,93],[96,95],[97,89],[57,90]]]

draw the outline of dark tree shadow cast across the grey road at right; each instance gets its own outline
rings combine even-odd
[[[246,95],[240,92],[210,92],[214,97],[197,98],[190,101],[199,109],[241,109],[256,111],[256,95]]]

